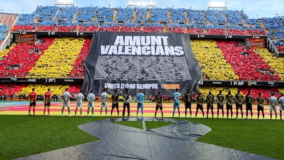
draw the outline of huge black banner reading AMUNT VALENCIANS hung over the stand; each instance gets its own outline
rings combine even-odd
[[[95,94],[129,89],[163,95],[197,90],[200,67],[189,34],[95,32],[86,58],[82,91]]]

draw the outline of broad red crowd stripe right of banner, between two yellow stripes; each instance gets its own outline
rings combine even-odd
[[[279,75],[252,48],[239,41],[217,41],[228,64],[239,80],[279,81]]]

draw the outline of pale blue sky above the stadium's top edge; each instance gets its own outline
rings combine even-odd
[[[74,0],[75,6],[99,6],[110,8],[126,8],[128,0]],[[156,0],[158,8],[191,8],[192,10],[207,10],[212,0]],[[223,0],[221,0],[223,1]],[[32,13],[37,5],[54,5],[55,0],[0,0],[0,12]],[[249,18],[284,16],[283,0],[227,0],[228,10],[244,10]]]

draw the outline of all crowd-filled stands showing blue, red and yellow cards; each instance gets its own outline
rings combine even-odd
[[[1,18],[0,14],[0,20]],[[7,14],[8,15],[8,14]],[[5,15],[5,16],[7,16]],[[15,18],[16,17],[16,18]],[[3,18],[4,19],[4,18]],[[6,19],[6,18],[5,18]],[[14,19],[14,20],[13,20]],[[16,20],[17,19],[17,20]],[[14,24],[16,21],[16,25]],[[12,23],[13,22],[13,23]],[[0,21],[1,23],[1,21]],[[31,14],[11,14],[0,25],[1,39],[6,32],[169,32],[204,35],[268,35],[279,52],[284,52],[283,17],[248,19],[242,11],[189,10],[174,8],[99,8],[38,6]],[[11,24],[11,25],[10,25]],[[3,28],[1,28],[3,27]],[[2,38],[1,38],[2,37]],[[17,78],[84,78],[84,60],[91,45],[89,37],[43,37],[36,45],[17,44],[0,52],[0,77]],[[191,47],[202,69],[203,80],[255,80],[278,82],[284,80],[283,58],[268,49],[253,49],[244,41],[192,40]],[[80,85],[1,84],[1,93],[38,93],[47,88],[61,95],[66,87],[75,94]],[[12,88],[14,91],[12,91]],[[279,93],[276,88],[239,88],[257,98],[263,93]],[[219,91],[226,94],[234,87],[200,87],[204,94]]]

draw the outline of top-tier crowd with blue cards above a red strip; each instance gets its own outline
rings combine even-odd
[[[152,28],[154,27],[154,28]],[[265,34],[244,12],[174,8],[99,8],[38,6],[21,14],[12,31],[34,32],[189,32],[191,34]]]

